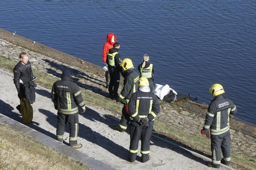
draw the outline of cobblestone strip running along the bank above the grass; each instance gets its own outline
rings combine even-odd
[[[27,52],[30,55],[30,61],[33,69],[46,72],[49,76],[61,77],[62,70],[68,68],[72,74],[73,81],[80,87],[91,90],[92,92],[108,97],[108,91],[105,88],[104,71],[102,74],[93,74],[88,70],[80,70],[74,66],[64,64],[54,58],[50,58],[41,53],[30,51],[16,44],[9,43],[4,39],[0,39],[0,56],[12,58],[19,61],[19,53]],[[119,86],[119,92],[121,90]],[[157,117],[158,121],[164,122],[173,128],[182,130],[188,134],[201,136],[200,130],[204,124],[205,117],[189,112],[180,107],[161,102],[161,112]],[[230,130],[232,146],[231,150],[239,154],[248,154],[256,156],[256,138],[253,135],[243,134],[240,131]],[[209,141],[210,142],[210,141]]]

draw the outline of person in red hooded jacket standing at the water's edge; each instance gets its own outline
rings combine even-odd
[[[107,66],[106,60],[107,60],[107,52],[109,49],[113,48],[113,44],[116,43],[116,36],[113,33],[108,33],[107,35],[107,41],[103,46],[103,53],[102,53],[102,57],[103,57],[103,62],[104,65]],[[106,88],[108,88],[108,74],[109,74],[109,70],[106,71],[105,73],[105,77],[106,77]]]

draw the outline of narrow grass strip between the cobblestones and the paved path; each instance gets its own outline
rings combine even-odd
[[[5,57],[0,57],[0,63],[1,63],[0,67],[9,72],[12,72],[12,69],[16,64],[15,61]],[[48,89],[51,89],[51,86],[53,85],[53,83],[59,80],[59,78],[49,76],[47,73],[44,73],[44,72],[39,72],[37,70],[33,70],[33,72],[37,77],[36,82],[39,85],[44,86],[45,88],[48,88]],[[81,91],[83,93],[85,102],[88,106],[92,106],[97,109],[107,110],[114,114],[121,114],[122,105],[120,104],[118,105],[113,100],[110,100],[109,98],[103,97],[99,94],[93,93],[90,90],[81,88]],[[198,137],[198,136],[190,135],[188,133],[185,133],[184,131],[180,131],[180,130],[177,130],[176,128],[172,128],[172,126],[168,126],[160,121],[155,121],[154,130],[158,134],[164,135],[165,137],[168,137],[177,142],[180,142],[188,147],[191,147],[192,149],[195,149],[210,155],[210,140],[207,139],[206,137],[203,137],[203,136]],[[232,166],[236,169],[244,169],[244,167],[256,169],[255,158],[249,157],[248,155],[240,155],[233,152],[232,162],[236,163],[236,164],[232,163]],[[237,164],[242,165],[244,167],[238,166]]]

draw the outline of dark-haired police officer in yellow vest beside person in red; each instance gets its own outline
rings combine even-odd
[[[120,48],[119,43],[114,44],[114,48],[108,50],[107,53],[107,65],[110,74],[110,82],[108,86],[108,92],[110,97],[117,98],[118,97],[118,87],[120,81],[120,71],[119,67],[122,62],[120,58],[120,54],[118,52]]]

